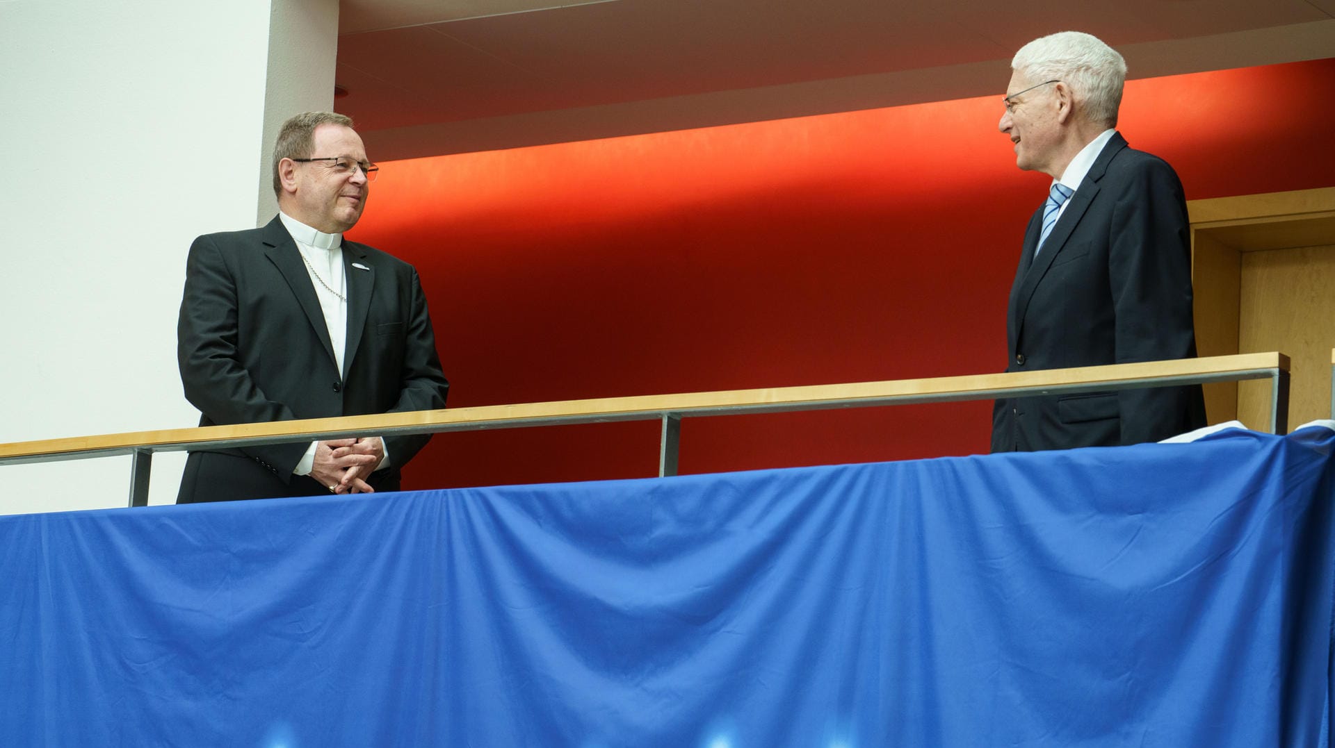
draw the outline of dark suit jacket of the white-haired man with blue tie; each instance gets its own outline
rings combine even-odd
[[[1029,220],[1007,311],[1008,372],[1196,355],[1181,183],[1115,133],[1039,256]],[[997,400],[992,451],[1157,441],[1206,424],[1200,385]]]

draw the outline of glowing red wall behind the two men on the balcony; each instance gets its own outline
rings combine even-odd
[[[382,164],[450,405],[987,373],[1048,177],[999,93]],[[1335,185],[1335,59],[1136,80],[1188,199]],[[371,155],[374,157],[374,153]],[[682,472],[985,452],[991,403],[688,419]],[[653,475],[657,423],[438,435],[407,487]]]

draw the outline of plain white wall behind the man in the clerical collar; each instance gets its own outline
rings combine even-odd
[[[198,423],[186,251],[256,223],[271,27],[327,60],[290,65],[280,120],[332,104],[336,24],[336,0],[0,0],[0,443]],[[150,503],[183,464],[154,457]],[[0,513],[123,507],[128,485],[129,457],[0,465]]]

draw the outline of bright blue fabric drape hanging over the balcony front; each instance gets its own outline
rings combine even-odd
[[[0,745],[1324,745],[1332,444],[0,517]]]

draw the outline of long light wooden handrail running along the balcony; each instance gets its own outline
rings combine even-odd
[[[1332,363],[1335,363],[1335,351],[1332,351]],[[569,423],[987,400],[1012,395],[1043,395],[1080,389],[1127,389],[1165,384],[1238,381],[1274,377],[1279,373],[1287,375],[1288,365],[1288,356],[1279,352],[1242,353],[1033,372],[561,400],[410,413],[136,431],[0,444],[0,464],[311,441],[366,433],[437,433]]]

